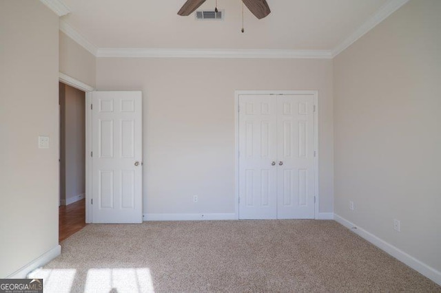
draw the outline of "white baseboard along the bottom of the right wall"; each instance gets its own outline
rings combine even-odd
[[[367,230],[356,226],[355,224],[351,223],[345,218],[340,217],[337,214],[334,214],[334,219],[338,223],[350,229],[352,232],[355,232],[362,238],[371,242],[373,245],[378,246],[378,248],[384,250],[384,252],[391,254],[392,257],[395,257],[399,261],[402,261],[402,263],[409,265],[409,267],[413,268],[413,270],[416,270],[420,274],[427,276],[427,278],[431,279],[435,283],[438,283],[438,285],[441,285],[441,272],[439,272],[438,270],[431,268],[429,265],[423,263],[422,261],[419,261],[415,257],[412,257],[406,252],[376,237],[376,235],[373,235],[371,232],[368,232]],[[354,227],[356,229],[354,229]]]

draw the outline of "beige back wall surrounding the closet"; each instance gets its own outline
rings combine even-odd
[[[143,91],[144,213],[234,213],[234,91],[319,90],[320,212],[333,211],[331,60],[98,58],[96,76]]]

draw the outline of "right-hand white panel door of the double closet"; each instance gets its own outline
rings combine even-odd
[[[277,96],[277,218],[314,219],[314,96]]]

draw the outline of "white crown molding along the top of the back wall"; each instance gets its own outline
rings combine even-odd
[[[314,58],[330,59],[327,50],[223,50],[223,49],[150,49],[99,48],[97,57],[132,58]]]

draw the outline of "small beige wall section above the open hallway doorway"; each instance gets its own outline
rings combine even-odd
[[[95,87],[95,56],[81,45],[59,32],[60,72]]]

